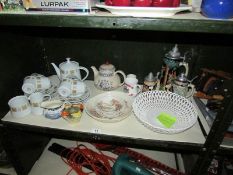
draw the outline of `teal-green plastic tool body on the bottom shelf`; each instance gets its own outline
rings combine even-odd
[[[127,154],[122,154],[112,167],[112,175],[153,175],[153,173],[134,162]]]

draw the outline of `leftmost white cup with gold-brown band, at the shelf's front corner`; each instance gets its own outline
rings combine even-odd
[[[26,96],[16,96],[9,100],[8,105],[13,117],[24,117],[30,114],[31,107]]]

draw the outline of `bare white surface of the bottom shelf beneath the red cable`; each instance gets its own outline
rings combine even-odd
[[[66,174],[70,167],[63,162],[60,156],[58,156],[55,153],[52,153],[48,150],[48,147],[52,143],[58,143],[62,146],[65,146],[67,148],[75,147],[78,144],[84,144],[89,149],[92,149],[93,151],[97,151],[95,147],[87,142],[75,142],[70,140],[62,140],[62,139],[51,139],[51,141],[48,143],[47,147],[44,149],[42,155],[40,158],[36,161],[34,166],[32,167],[29,175],[51,175],[51,174]],[[159,151],[150,151],[150,150],[143,150],[143,149],[133,149],[134,151],[138,151],[140,153],[143,153],[144,155],[157,160],[171,168],[176,169],[176,162],[175,162],[175,156],[173,153],[166,153],[166,152],[159,152]],[[98,151],[97,151],[98,152]],[[104,151],[103,152],[106,155],[112,156],[114,158],[117,158],[117,155]],[[179,165],[180,171],[184,172],[183,163],[182,160],[179,160],[178,156],[178,162],[181,163]],[[74,171],[71,172],[71,175],[75,175],[76,173]]]

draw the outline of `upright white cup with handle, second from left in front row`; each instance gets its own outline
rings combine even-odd
[[[28,99],[30,100],[30,104],[31,104],[32,114],[34,114],[34,115],[43,115],[44,109],[41,107],[41,103],[46,99],[46,97],[48,98],[48,100],[51,99],[50,95],[43,94],[41,92],[32,93],[28,97]]]

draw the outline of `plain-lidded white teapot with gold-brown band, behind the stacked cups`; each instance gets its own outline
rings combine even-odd
[[[61,63],[59,65],[59,68],[54,63],[51,64],[53,65],[60,80],[72,76],[83,81],[89,75],[89,71],[87,68],[79,66],[79,63],[76,61],[70,61],[70,58],[66,58],[66,62]],[[84,78],[81,78],[80,70],[84,70],[86,72]]]

